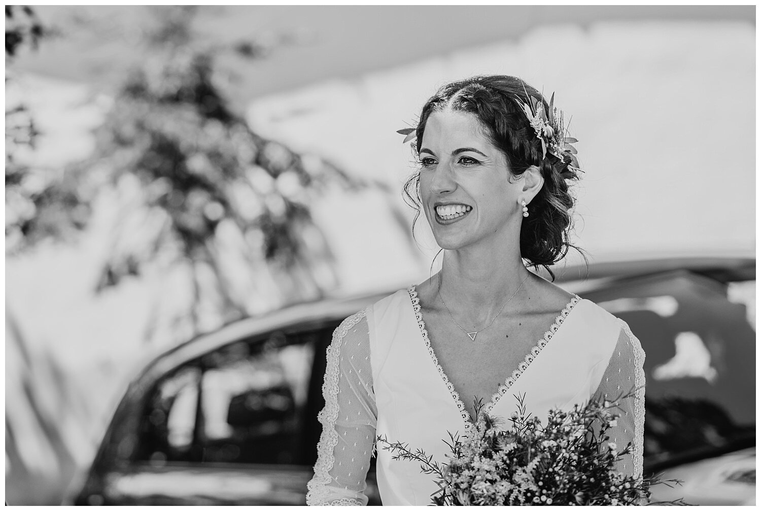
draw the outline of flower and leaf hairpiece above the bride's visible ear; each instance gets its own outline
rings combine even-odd
[[[544,113],[544,105],[541,101],[536,97],[528,96],[528,98],[530,106],[521,101],[520,97],[517,99],[517,103],[526,114],[534,132],[537,133],[537,138],[542,142],[542,158],[549,152],[549,154],[555,155],[556,158],[564,160],[564,156],[567,154],[571,159],[568,168],[573,171],[579,171],[578,159],[576,158],[577,151],[571,145],[574,142],[578,142],[578,140],[572,136],[565,136],[568,133],[568,129],[563,126],[563,113],[553,106],[555,93],[553,92],[552,97],[549,99],[549,117]]]

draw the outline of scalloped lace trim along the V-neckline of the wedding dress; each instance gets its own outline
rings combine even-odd
[[[431,339],[428,337],[428,330],[425,327],[425,321],[423,320],[423,314],[420,307],[420,298],[418,296],[416,287],[410,286],[409,289],[407,289],[407,293],[409,294],[409,299],[412,302],[412,310],[415,312],[415,318],[418,322],[420,334],[422,335],[423,341],[425,342],[425,347],[428,349],[428,354],[431,356],[431,361],[436,366],[438,374],[444,381],[444,385],[447,386],[449,393],[454,399],[454,403],[457,404],[457,409],[460,410],[460,416],[462,416],[465,423],[465,434],[467,435],[475,426],[473,417],[470,417],[470,413],[466,409],[463,401],[460,399],[460,394],[458,394],[454,389],[454,384],[449,381],[449,378],[444,372],[444,369],[441,367],[441,364],[438,363],[438,357],[436,356],[436,353],[431,346]],[[546,347],[547,343],[549,343],[549,340],[552,339],[552,337],[556,334],[556,332],[565,321],[565,318],[568,318],[568,315],[571,314],[571,311],[575,308],[578,302],[581,302],[581,300],[582,299],[579,295],[573,295],[572,299],[565,305],[562,311],[560,311],[558,317],[555,318],[555,321],[549,326],[549,330],[546,331],[544,336],[537,341],[533,348],[531,348],[531,351],[524,358],[524,361],[518,364],[517,369],[515,369],[512,374],[507,379],[505,379],[505,382],[499,386],[497,391],[492,394],[491,401],[489,401],[489,403],[482,408],[482,412],[486,412],[488,414],[491,413],[492,408],[494,408],[499,402],[500,398],[507,393],[508,389],[515,384],[517,379],[520,378],[524,372],[526,372],[531,362],[533,362],[539,353],[541,353],[541,351],[544,349],[544,347]],[[476,417],[476,420],[478,420],[478,417]]]

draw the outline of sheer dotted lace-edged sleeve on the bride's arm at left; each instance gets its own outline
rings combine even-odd
[[[367,311],[346,318],[327,349],[325,407],[314,477],[307,484],[310,506],[366,505],[365,477],[375,445],[377,409],[370,364]]]

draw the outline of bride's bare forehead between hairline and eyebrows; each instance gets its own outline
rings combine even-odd
[[[478,117],[473,113],[441,110],[431,113],[425,122],[422,147],[428,149],[458,149],[460,147],[488,149],[491,145]]]

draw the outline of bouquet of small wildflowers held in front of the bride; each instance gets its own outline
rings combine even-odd
[[[550,410],[543,425],[527,416],[523,398],[516,398],[518,411],[505,431],[498,428],[501,419],[482,413],[476,402],[474,433],[467,438],[450,433],[447,465],[380,436],[378,445],[396,452],[393,459],[421,462],[421,471],[435,476],[439,490],[431,498],[438,506],[638,505],[649,499],[651,484],[672,482],[613,470],[632,449],[609,442],[606,432],[617,419],[614,403],[590,401],[567,413]]]

